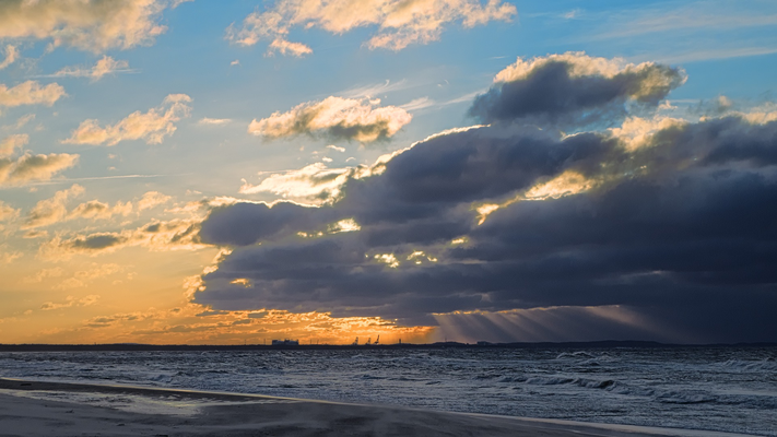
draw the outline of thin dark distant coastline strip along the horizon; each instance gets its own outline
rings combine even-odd
[[[207,352],[207,351],[364,351],[364,350],[435,350],[435,349],[701,349],[701,347],[777,347],[777,343],[715,343],[675,344],[651,341],[593,341],[593,342],[538,342],[538,343],[399,343],[399,344],[0,344],[0,352]]]

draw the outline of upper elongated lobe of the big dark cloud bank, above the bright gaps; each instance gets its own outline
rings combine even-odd
[[[605,155],[622,155],[614,140],[580,134],[560,141],[537,129],[472,129],[433,138],[390,161],[379,177],[349,180],[332,206],[290,202],[238,203],[214,210],[202,223],[203,243],[247,246],[297,232],[319,231],[342,218],[368,226],[365,238],[434,241],[467,233],[468,202],[528,188],[567,168],[596,172]]]

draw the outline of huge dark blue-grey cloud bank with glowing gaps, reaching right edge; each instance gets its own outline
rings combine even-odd
[[[548,315],[601,327],[588,340],[620,326],[664,341],[775,341],[777,121],[762,120],[433,135],[350,177],[330,204],[213,209],[202,243],[233,250],[195,303],[410,324],[566,308]],[[341,221],[354,231],[330,232]]]

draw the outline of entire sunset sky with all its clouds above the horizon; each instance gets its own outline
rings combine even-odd
[[[777,341],[777,3],[0,2],[0,343]]]

